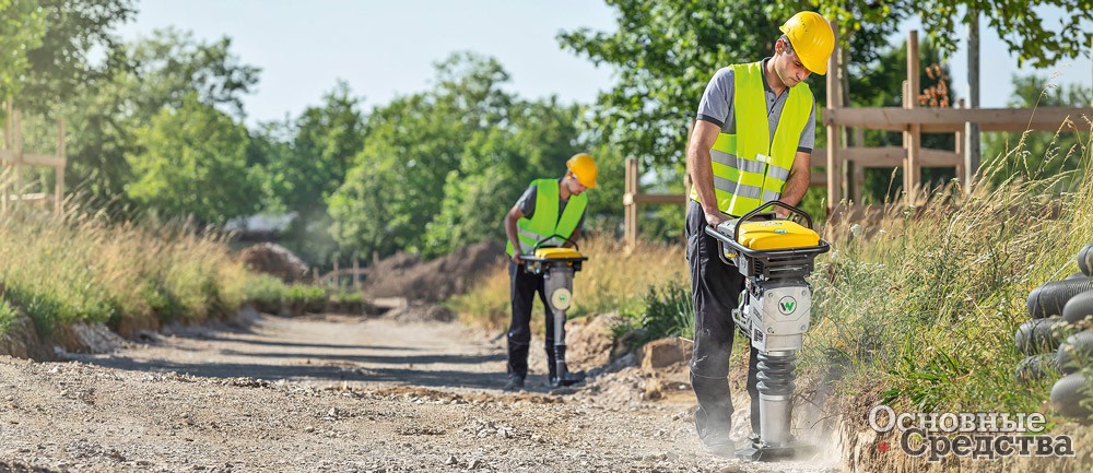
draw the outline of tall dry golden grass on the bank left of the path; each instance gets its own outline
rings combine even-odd
[[[236,310],[247,277],[223,235],[184,223],[114,225],[80,210],[58,221],[33,209],[0,220],[0,297],[46,333],[124,318],[200,322]]]

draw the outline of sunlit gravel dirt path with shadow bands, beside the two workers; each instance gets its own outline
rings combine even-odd
[[[693,398],[632,373],[503,392],[502,346],[458,323],[254,315],[69,356],[0,357],[0,472],[831,470],[704,453]]]

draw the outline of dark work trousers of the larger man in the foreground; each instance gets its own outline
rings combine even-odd
[[[718,245],[706,235],[702,205],[692,200],[686,211],[686,258],[691,269],[691,294],[694,301],[694,352],[691,357],[691,386],[698,400],[694,414],[698,436],[728,434],[732,421],[729,397],[729,353],[737,333],[731,310],[740,301],[744,276],[737,267],[718,257]],[[750,348],[750,346],[749,346]],[[752,431],[759,433],[759,391],[755,387],[756,350],[749,350],[748,393],[751,395]]]

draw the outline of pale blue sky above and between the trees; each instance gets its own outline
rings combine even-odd
[[[524,98],[590,104],[613,84],[609,67],[563,51],[555,39],[581,26],[614,31],[613,10],[597,0],[141,0],[139,9],[120,28],[125,39],[171,25],[207,42],[226,35],[243,62],[262,69],[257,92],[244,97],[250,125],[298,116],[339,79],[364,98],[365,110],[427,90],[433,63],[460,50],[496,58],[512,75],[508,88]],[[915,24],[896,35],[906,38]],[[1082,42],[1089,50],[1089,38]],[[1016,60],[986,27],[980,55],[980,106],[1002,107]],[[965,58],[962,44],[951,61],[959,96],[967,91]],[[1057,71],[1059,83],[1093,82],[1088,56],[1036,72]]]

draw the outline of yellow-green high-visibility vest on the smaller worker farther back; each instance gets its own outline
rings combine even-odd
[[[554,237],[554,235],[561,235],[565,238],[573,236],[573,232],[577,229],[577,224],[580,223],[580,217],[585,214],[585,208],[588,205],[588,196],[584,193],[569,196],[565,211],[559,216],[557,208],[561,193],[557,179],[536,179],[531,181],[531,185],[537,188],[536,211],[531,214],[531,218],[521,217],[516,221],[516,227],[519,230],[517,236],[520,240],[520,252],[524,255],[530,253],[536,244],[544,238],[553,237],[544,241],[541,247],[562,246],[565,240]],[[512,241],[508,243],[506,251],[508,256],[513,256]]]

